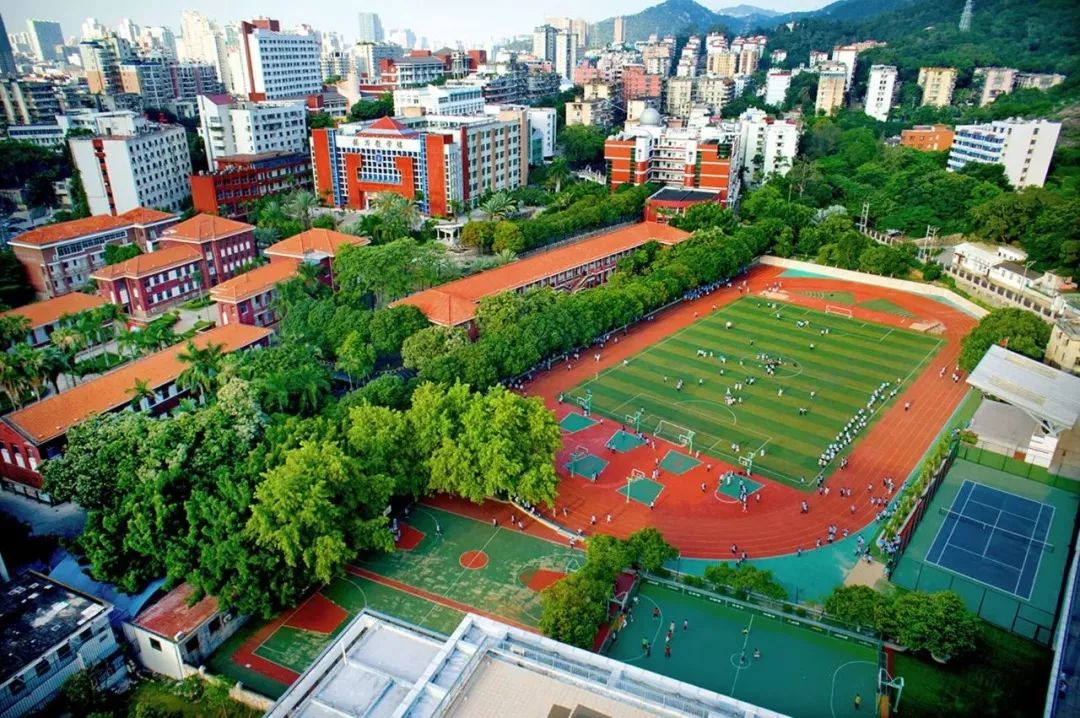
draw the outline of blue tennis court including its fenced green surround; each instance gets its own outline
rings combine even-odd
[[[892,581],[955,591],[980,618],[1049,645],[1078,505],[1076,492],[957,459]]]

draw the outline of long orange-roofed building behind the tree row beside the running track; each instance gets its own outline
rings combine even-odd
[[[411,304],[432,324],[474,330],[476,306],[484,297],[552,287],[577,292],[607,281],[616,263],[647,242],[678,244],[688,232],[667,225],[643,222],[581,240],[551,252],[480,272],[456,282],[405,297],[396,304]]]

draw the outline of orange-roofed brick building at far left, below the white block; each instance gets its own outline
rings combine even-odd
[[[138,207],[119,216],[98,215],[38,227],[9,244],[39,298],[59,297],[86,285],[105,266],[106,245],[137,244],[146,252],[176,215]]]

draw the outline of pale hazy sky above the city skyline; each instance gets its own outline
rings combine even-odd
[[[382,26],[407,27],[417,36],[432,40],[462,40],[475,43],[489,38],[524,35],[543,23],[545,17],[584,17],[590,23],[611,17],[631,15],[660,0],[548,0],[542,4],[529,3],[526,12],[516,2],[504,0],[396,0],[379,3],[347,3],[333,0],[296,2],[295,0],[224,0],[211,2],[147,2],[146,0],[49,0],[36,3],[15,0],[14,6],[0,10],[9,32],[25,31],[29,17],[60,23],[65,37],[81,35],[82,22],[96,17],[114,27],[121,18],[136,25],[167,25],[179,32],[180,11],[198,10],[218,22],[235,22],[258,15],[268,15],[282,22],[283,27],[307,23],[318,30],[341,32],[347,40],[356,35],[356,13],[378,12]],[[738,0],[698,0],[711,9],[739,4]],[[761,0],[748,2],[778,12],[812,10],[828,4],[829,0]]]

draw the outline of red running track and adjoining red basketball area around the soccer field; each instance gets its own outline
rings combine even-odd
[[[606,442],[615,429],[611,422],[599,424],[565,437],[567,446],[559,453],[557,466],[563,482],[557,499],[557,521],[564,527],[589,534],[595,527],[590,526],[590,517],[599,517],[599,530],[618,537],[625,537],[644,526],[654,526],[676,545],[686,557],[724,558],[731,556],[731,545],[738,544],[739,552],[750,557],[760,558],[794,553],[797,547],[812,548],[815,540],[824,539],[829,525],[840,531],[860,529],[875,519],[879,509],[872,505],[873,496],[886,497],[881,479],[892,476],[897,483],[904,480],[916,468],[919,460],[936,438],[942,426],[957,408],[967,392],[963,381],[953,382],[948,376],[939,376],[941,367],[956,365],[960,352],[960,340],[975,324],[975,320],[948,304],[929,297],[907,294],[895,289],[866,284],[856,284],[825,277],[783,277],[781,268],[757,267],[748,275],[750,289],[757,294],[767,285],[782,282],[788,294],[785,301],[810,309],[824,310],[831,303],[827,299],[806,296],[804,292],[836,293],[848,292],[855,303],[873,299],[888,299],[907,310],[914,317],[902,317],[891,313],[870,311],[852,306],[854,319],[876,322],[889,326],[909,327],[913,323],[939,321],[945,331],[939,335],[945,340],[934,361],[928,363],[921,375],[905,385],[903,393],[883,416],[873,424],[868,433],[855,444],[849,455],[850,463],[842,474],[837,470],[826,485],[834,489],[840,486],[854,489],[853,499],[839,496],[833,490],[822,497],[816,492],[801,491],[778,484],[758,474],[753,478],[761,484],[761,500],[752,502],[751,511],[743,513],[738,503],[717,501],[712,491],[702,493],[700,485],[706,482],[715,485],[716,472],[734,470],[717,459],[712,459],[713,473],[706,473],[706,461],[702,455],[701,465],[681,476],[666,472],[661,476],[663,493],[656,507],[650,509],[637,502],[626,503],[617,489],[625,486],[632,469],[651,469],[656,458],[662,458],[669,449],[678,448],[661,439],[656,441],[656,449],[648,445],[627,453],[608,451]],[[637,352],[659,342],[669,335],[692,324],[696,313],[702,315],[712,311],[712,306],[726,306],[741,296],[737,288],[716,292],[697,301],[679,304],[659,314],[652,322],[644,322],[619,337],[619,342],[608,342],[600,361],[582,357],[570,370],[565,364],[539,375],[526,387],[526,393],[544,398],[548,406],[562,419],[576,407],[559,404],[557,396],[568,392],[580,382],[616,363],[622,362]],[[852,357],[856,361],[859,357]],[[903,404],[910,402],[910,410]],[[564,464],[569,460],[569,451],[583,445],[592,453],[610,463],[594,483],[580,476],[567,475]],[[875,489],[867,491],[867,484]],[[897,487],[899,488],[899,487]],[[801,514],[800,502],[808,501],[810,511]],[[855,513],[851,505],[855,504]],[[568,516],[562,514],[563,507]],[[503,507],[477,507],[480,517],[499,517]],[[607,521],[607,515],[611,520]]]

